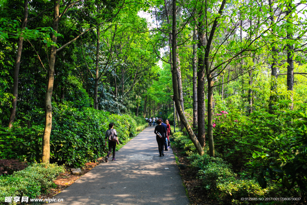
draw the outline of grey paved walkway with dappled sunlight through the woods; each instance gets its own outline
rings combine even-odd
[[[188,205],[171,148],[159,157],[154,127],[130,140],[116,161],[103,162],[54,196],[69,205]]]

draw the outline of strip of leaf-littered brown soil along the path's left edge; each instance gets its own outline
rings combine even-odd
[[[56,180],[53,182],[55,183],[56,187],[49,189],[47,191],[47,194],[42,194],[37,198],[40,199],[48,199],[52,198],[54,195],[57,195],[62,190],[64,190],[66,187],[70,186],[72,183],[74,183],[77,179],[79,179],[81,176],[89,172],[92,168],[100,164],[104,160],[104,157],[98,158],[96,162],[87,162],[84,167],[81,168],[82,174],[81,175],[73,175],[72,171],[70,171],[73,167],[65,167],[65,173],[64,176],[58,176]]]

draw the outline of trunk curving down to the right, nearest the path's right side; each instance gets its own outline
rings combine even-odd
[[[188,120],[185,117],[185,113],[183,112],[183,109],[181,107],[180,104],[180,96],[179,96],[179,92],[178,92],[178,80],[177,80],[177,53],[176,53],[176,49],[177,49],[177,29],[176,29],[176,25],[177,25],[177,19],[176,19],[176,14],[177,14],[177,8],[176,8],[176,0],[173,0],[173,27],[172,27],[172,36],[173,36],[173,40],[172,40],[172,57],[173,57],[173,70],[172,70],[172,76],[173,76],[173,91],[174,91],[174,102],[176,105],[176,109],[178,111],[178,114],[180,116],[180,120],[182,122],[182,124],[184,124],[185,129],[188,132],[188,135],[190,137],[190,139],[192,140],[193,144],[196,147],[196,150],[198,151],[198,153],[200,155],[204,154],[204,150],[203,148],[200,146]]]

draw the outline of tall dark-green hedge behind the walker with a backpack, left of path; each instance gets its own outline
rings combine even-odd
[[[32,120],[31,127],[21,126],[22,123],[17,121],[10,130],[0,128],[0,158],[18,157],[28,162],[41,161],[44,112],[33,111],[26,118]],[[54,104],[50,162],[80,167],[88,161],[105,156],[107,148],[104,146],[104,138],[109,123],[114,123],[119,142],[123,144],[144,128],[144,121],[137,124],[135,118],[140,122],[138,117],[120,116],[93,108],[78,110]]]

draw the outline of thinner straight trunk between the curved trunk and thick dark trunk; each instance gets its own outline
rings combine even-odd
[[[193,41],[197,40],[196,30],[193,30]],[[193,69],[193,128],[197,128],[197,53],[196,53],[196,44],[193,44],[193,59],[192,59],[192,69]]]

